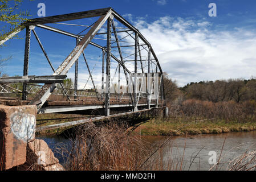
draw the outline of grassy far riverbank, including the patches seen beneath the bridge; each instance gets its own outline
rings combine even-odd
[[[38,114],[36,117],[36,125],[47,126],[57,123],[76,121],[87,117],[87,115],[79,114]],[[131,129],[132,128],[133,127],[131,127]],[[193,118],[151,118],[143,123],[137,123],[134,128],[136,129],[133,130],[133,134],[152,136],[180,136],[185,134],[220,134],[237,131],[253,131],[256,130],[256,122],[224,121],[221,119],[196,120]],[[36,135],[54,136],[67,129],[68,127],[41,131],[40,133],[36,133]]]

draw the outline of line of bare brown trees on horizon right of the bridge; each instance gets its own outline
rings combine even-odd
[[[255,78],[190,82],[190,84],[178,88],[177,82],[168,78],[165,73],[164,85],[167,101],[173,101],[177,97],[182,97],[185,100],[196,99],[211,102],[256,101]]]

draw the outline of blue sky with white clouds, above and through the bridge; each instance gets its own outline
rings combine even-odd
[[[21,10],[30,10],[31,18],[38,18],[37,5],[46,5],[46,16],[113,7],[152,44],[163,71],[178,85],[202,80],[250,78],[256,76],[256,1],[231,0],[124,0],[124,1],[23,1]],[[209,17],[209,3],[216,3],[217,17]],[[88,25],[95,19],[88,20]],[[72,23],[83,23],[76,20]],[[2,26],[2,23],[0,23]],[[55,27],[61,27],[55,25]],[[68,31],[75,31],[64,27]],[[63,29],[63,28],[62,28]],[[83,30],[84,28],[80,28]],[[64,29],[65,30],[65,29]],[[55,69],[68,56],[75,40],[36,30]],[[76,30],[75,32],[79,32]],[[25,37],[25,31],[19,34]],[[47,40],[46,40],[47,38]],[[58,40],[58,41],[56,41]],[[67,43],[68,42],[68,43]],[[2,58],[12,56],[4,73],[22,75],[24,39],[6,42],[0,48]],[[34,38],[31,44],[35,45]],[[37,46],[37,45],[36,45]],[[29,75],[51,75],[47,61],[39,47],[32,46]],[[95,80],[100,84],[100,52],[88,47],[87,59],[95,67]],[[79,64],[79,88],[87,81],[86,67]],[[74,75],[72,68],[68,76]],[[99,76],[97,76],[99,75]],[[92,86],[88,82],[88,86]]]

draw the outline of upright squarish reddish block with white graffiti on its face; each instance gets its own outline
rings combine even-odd
[[[35,139],[36,106],[0,105],[0,169],[26,162],[27,142]]]

